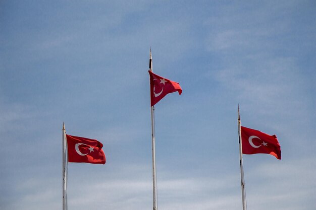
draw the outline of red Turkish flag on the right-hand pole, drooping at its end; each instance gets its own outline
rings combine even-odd
[[[241,126],[241,139],[243,154],[265,153],[281,160],[281,147],[276,135]]]

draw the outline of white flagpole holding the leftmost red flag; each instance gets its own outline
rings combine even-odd
[[[66,157],[67,143],[66,143],[66,129],[65,122],[63,124],[63,210],[67,210],[67,165]]]

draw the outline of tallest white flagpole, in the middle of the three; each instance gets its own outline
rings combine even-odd
[[[151,47],[149,51],[149,71],[152,72]],[[154,143],[154,106],[151,106],[151,144],[152,144],[152,189],[153,189],[153,210],[157,210],[157,177],[156,177],[156,158]]]

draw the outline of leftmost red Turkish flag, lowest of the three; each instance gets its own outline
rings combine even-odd
[[[66,135],[68,162],[105,164],[103,145],[95,139]]]

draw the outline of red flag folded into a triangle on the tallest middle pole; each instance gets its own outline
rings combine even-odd
[[[160,77],[158,75],[149,72],[150,76],[150,102],[151,106],[155,105],[168,93],[178,91],[179,95],[182,93],[182,89],[179,83]]]

